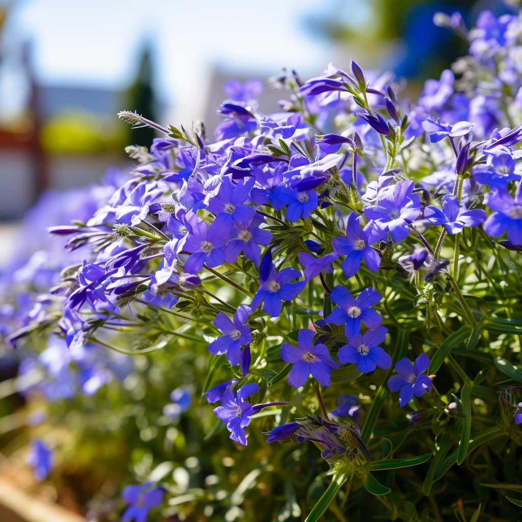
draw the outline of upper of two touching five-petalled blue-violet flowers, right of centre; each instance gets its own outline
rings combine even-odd
[[[330,299],[340,307],[325,317],[327,323],[345,325],[345,336],[347,339],[361,331],[361,321],[368,327],[375,329],[382,321],[371,306],[376,305],[383,296],[374,288],[365,288],[356,299],[351,293],[339,284],[331,291]]]

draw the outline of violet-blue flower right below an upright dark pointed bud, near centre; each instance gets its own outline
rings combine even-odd
[[[263,312],[277,317],[281,313],[281,301],[292,301],[300,293],[306,281],[291,283],[292,279],[301,276],[301,272],[295,268],[283,268],[276,272],[272,266],[266,280],[261,280],[261,286],[252,299],[252,310],[263,304]]]

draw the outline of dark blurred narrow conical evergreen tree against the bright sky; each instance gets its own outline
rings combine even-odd
[[[146,42],[141,50],[138,73],[134,82],[124,93],[122,110],[136,111],[138,114],[157,121],[156,97],[153,87],[152,46]],[[150,147],[152,138],[157,137],[156,131],[150,127],[132,129],[125,125],[125,143]]]

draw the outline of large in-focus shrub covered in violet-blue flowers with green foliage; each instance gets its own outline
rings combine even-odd
[[[135,466],[123,519],[163,500],[194,520],[518,516],[521,22],[437,20],[470,55],[417,104],[352,62],[279,78],[271,115],[258,82],[231,82],[213,140],[120,113],[162,137],[127,148],[91,216],[51,229],[81,263],[8,340],[57,325],[71,354],[162,353],[175,390],[141,438],[177,422],[183,442]],[[154,372],[133,375],[155,397]]]

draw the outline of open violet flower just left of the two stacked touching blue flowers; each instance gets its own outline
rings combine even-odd
[[[326,345],[314,346],[314,331],[307,329],[299,330],[297,347],[283,343],[281,359],[293,364],[288,374],[288,384],[295,388],[303,386],[310,374],[319,384],[330,386],[331,370],[339,367],[330,357]]]

